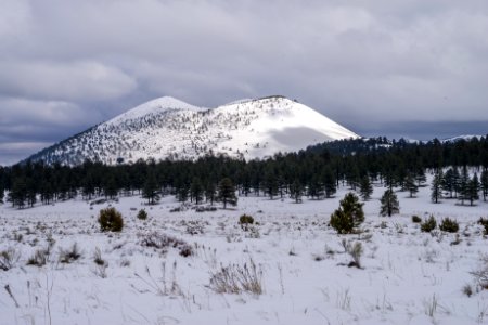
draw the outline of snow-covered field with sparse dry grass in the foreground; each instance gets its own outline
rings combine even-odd
[[[121,233],[99,230],[97,217],[107,204],[1,205],[0,251],[12,248],[18,260],[0,270],[0,324],[488,323],[488,290],[477,289],[470,273],[488,255],[476,223],[488,218],[487,203],[434,205],[423,187],[416,198],[397,193],[401,213],[385,218],[378,217],[383,188],[376,187],[364,205],[363,232],[337,235],[328,222],[345,193],[303,204],[240,197],[233,209],[206,212],[170,212],[180,206],[174,197],[153,207],[125,197],[112,203],[125,219]],[[149,218],[142,221],[136,216],[144,207]],[[258,224],[243,230],[243,213]],[[459,236],[422,233],[411,217],[431,213],[438,223],[458,220]],[[180,255],[182,242],[147,247],[147,238],[165,235],[190,244],[193,256]],[[348,268],[345,252],[344,244],[357,242],[362,269]],[[61,262],[74,244],[80,257]],[[46,265],[27,265],[48,247]],[[222,266],[252,272],[253,263],[261,295],[220,294],[210,283]]]

